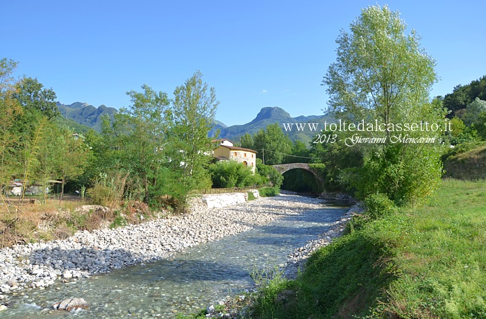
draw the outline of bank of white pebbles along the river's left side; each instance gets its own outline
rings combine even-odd
[[[295,195],[260,198],[234,207],[212,209],[196,199],[188,214],[140,225],[77,232],[65,240],[5,248],[0,250],[0,304],[11,293],[44,289],[59,279],[68,282],[76,277],[165,259],[192,245],[319,207],[320,200]],[[306,245],[294,260],[300,260],[311,250]]]

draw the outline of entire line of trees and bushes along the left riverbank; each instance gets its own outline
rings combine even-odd
[[[74,189],[87,187],[90,197],[102,204],[140,200],[183,207],[189,191],[208,189],[221,180],[224,170],[210,166],[215,145],[208,136],[219,102],[200,71],[176,87],[172,98],[148,85],[127,92],[131,106],[112,121],[105,117],[101,133],[78,135],[62,124],[52,89],[33,78],[12,78],[17,63],[0,62],[1,196],[12,180],[24,184],[21,198],[31,184],[46,189],[60,181],[61,200],[70,182]],[[259,166],[263,175],[229,184],[281,183]]]

